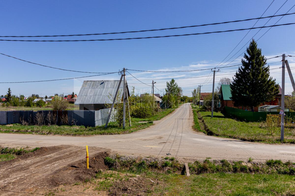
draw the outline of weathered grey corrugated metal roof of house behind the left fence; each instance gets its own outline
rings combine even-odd
[[[119,82],[119,80],[84,81],[75,105],[113,103],[112,98],[115,96]],[[123,96],[123,81],[119,88],[119,96]]]

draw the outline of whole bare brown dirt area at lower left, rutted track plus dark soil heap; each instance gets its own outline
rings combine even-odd
[[[54,188],[94,177],[107,169],[106,149],[89,147],[89,169],[86,169],[86,149],[60,145],[40,148],[16,159],[0,163],[0,195],[32,193],[40,188]],[[13,192],[11,191],[13,190]]]

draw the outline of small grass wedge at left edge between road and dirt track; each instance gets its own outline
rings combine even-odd
[[[0,147],[0,162],[1,161],[9,161],[18,155],[23,155],[26,153],[34,152],[39,150],[40,148],[28,149],[28,148],[2,148]]]

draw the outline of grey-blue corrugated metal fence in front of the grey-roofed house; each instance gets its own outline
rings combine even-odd
[[[0,111],[0,124],[29,125],[84,125],[89,127],[106,124],[110,108],[101,110],[12,110]],[[114,121],[114,110],[110,122]]]

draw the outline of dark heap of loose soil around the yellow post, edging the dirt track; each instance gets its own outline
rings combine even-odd
[[[47,176],[48,180],[43,185],[48,187],[58,186],[62,184],[73,184],[75,182],[83,182],[91,179],[99,170],[107,170],[104,165],[104,158],[108,156],[107,152],[97,153],[89,159],[89,169],[86,168],[86,160],[79,160],[71,163]]]

